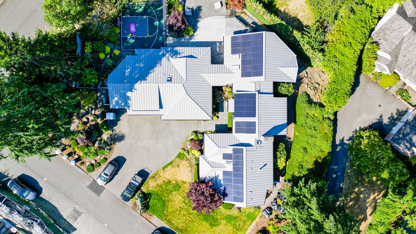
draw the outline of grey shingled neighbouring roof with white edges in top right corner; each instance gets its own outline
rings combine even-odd
[[[376,25],[372,37],[379,44],[378,71],[391,74],[395,69],[416,82],[416,0],[395,4]]]

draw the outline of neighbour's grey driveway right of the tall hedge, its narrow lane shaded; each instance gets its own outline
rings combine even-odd
[[[348,145],[354,133],[369,126],[384,137],[409,110],[406,104],[364,75],[360,76],[358,83],[354,84],[357,89],[335,119],[335,138],[327,177],[328,194],[342,193]]]

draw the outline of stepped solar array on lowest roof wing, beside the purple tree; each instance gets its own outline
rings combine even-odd
[[[227,194],[224,200],[243,202],[243,149],[233,148],[232,157],[233,171],[223,171],[223,187]]]

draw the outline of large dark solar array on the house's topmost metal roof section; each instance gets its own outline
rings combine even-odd
[[[241,54],[241,77],[263,75],[263,34],[231,37],[231,54]]]

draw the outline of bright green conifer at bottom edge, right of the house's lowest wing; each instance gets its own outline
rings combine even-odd
[[[286,209],[282,218],[291,222],[280,227],[286,234],[359,234],[357,220],[337,205],[333,196],[327,195],[327,185],[322,181],[300,180],[298,185],[284,191]]]

